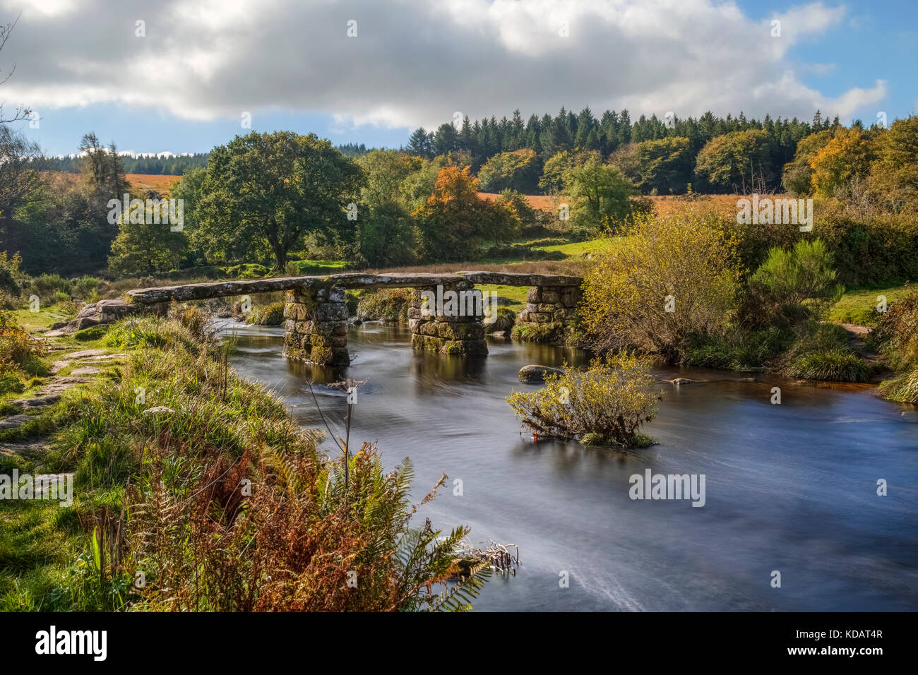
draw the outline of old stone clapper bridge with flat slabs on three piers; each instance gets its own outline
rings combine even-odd
[[[412,288],[409,308],[411,346],[439,354],[487,354],[483,303],[465,303],[458,312],[446,312],[442,305],[422,312],[423,293],[434,297],[438,290],[456,291],[460,298],[475,292],[476,284],[528,286],[526,308],[517,325],[554,328],[570,321],[580,298],[579,276],[537,275],[511,272],[393,273],[345,272],[330,276],[290,276],[252,281],[218,281],[185,286],[162,286],[128,291],[134,305],[163,313],[173,300],[201,300],[230,296],[287,291],[284,308],[284,354],[320,365],[346,366],[347,288]],[[480,295],[480,294],[479,294]],[[428,303],[432,304],[432,303]],[[472,309],[474,306],[474,309]],[[88,309],[88,308],[87,308]],[[438,313],[441,311],[443,313]],[[495,309],[496,310],[496,309]]]

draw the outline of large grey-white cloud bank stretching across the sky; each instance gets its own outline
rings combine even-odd
[[[8,14],[21,5],[0,0]],[[844,6],[771,18],[712,0],[35,0],[0,54],[17,63],[0,94],[39,109],[118,103],[191,119],[320,112],[335,129],[562,105],[844,117],[886,95],[877,81],[823,96],[800,80],[808,66],[789,60],[791,46],[843,21]],[[135,37],[137,19],[146,37]]]

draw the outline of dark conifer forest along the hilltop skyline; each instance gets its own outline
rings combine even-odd
[[[860,122],[856,126],[863,127]],[[559,152],[591,152],[603,158],[614,158],[622,168],[631,168],[641,158],[646,162],[666,162],[668,175],[665,180],[645,178],[641,188],[646,194],[654,190],[682,194],[686,191],[723,192],[732,190],[716,179],[702,172],[696,185],[693,171],[701,150],[713,139],[737,132],[759,132],[747,134],[745,141],[754,146],[752,163],[738,167],[733,178],[742,180],[748,174],[747,182],[761,181],[764,175],[769,187],[778,187],[780,167],[788,163],[796,152],[797,143],[815,131],[840,126],[838,118],[829,121],[816,111],[812,123],[798,118],[747,119],[741,112],[738,117],[728,114],[725,118],[706,112],[700,118],[679,118],[669,115],[664,119],[656,115],[642,115],[632,121],[627,109],[617,112],[606,110],[599,118],[585,107],[578,114],[564,107],[554,118],[545,114],[541,118],[532,115],[524,120],[519,110],[511,118],[495,117],[476,119],[465,116],[457,129],[446,122],[433,131],[415,129],[410,135],[405,150],[410,154],[431,159],[440,154],[463,153],[473,172],[488,163],[503,163],[500,159],[509,152],[531,151],[532,166],[518,179],[516,186],[526,192],[550,191],[539,181],[543,166]],[[668,141],[667,141],[668,140]],[[648,145],[650,141],[658,141]],[[649,157],[645,157],[649,155]],[[777,182],[775,175],[777,174]],[[482,180],[486,189],[499,190],[504,187],[500,179]]]

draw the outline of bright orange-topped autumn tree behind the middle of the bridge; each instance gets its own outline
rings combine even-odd
[[[512,209],[478,197],[478,179],[467,166],[442,167],[433,194],[413,215],[420,257],[443,262],[470,260],[485,242],[506,242],[520,227]]]

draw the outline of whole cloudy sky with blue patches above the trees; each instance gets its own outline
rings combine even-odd
[[[17,16],[0,103],[31,109],[15,126],[54,155],[88,131],[177,154],[251,129],[399,147],[516,108],[918,108],[915,0],[0,0],[0,24]]]

